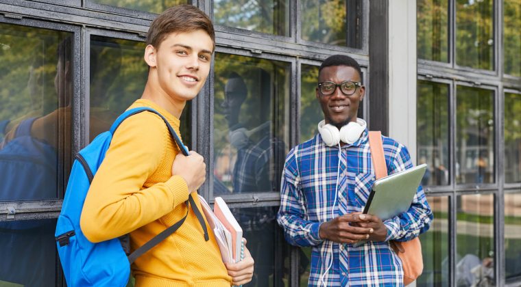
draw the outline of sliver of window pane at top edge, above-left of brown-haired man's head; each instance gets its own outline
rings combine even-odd
[[[175,5],[190,4],[190,0],[93,0],[95,3],[160,14]]]

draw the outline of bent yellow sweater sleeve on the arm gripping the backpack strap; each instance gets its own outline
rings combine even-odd
[[[119,126],[83,206],[80,226],[89,241],[132,232],[188,200],[181,176],[143,187],[164,160],[170,137],[165,122],[152,113],[138,113]]]

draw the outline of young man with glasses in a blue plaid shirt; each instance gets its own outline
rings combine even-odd
[[[420,187],[407,213],[386,221],[361,214],[375,180],[366,124],[357,118],[365,94],[361,69],[351,57],[333,55],[318,81],[324,120],[286,158],[278,223],[290,244],[313,247],[309,286],[402,286],[402,264],[389,241],[428,230],[431,208]],[[389,174],[413,166],[405,146],[382,139]]]

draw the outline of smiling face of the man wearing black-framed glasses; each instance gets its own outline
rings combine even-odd
[[[319,83],[333,82],[342,83],[343,81],[360,82],[360,74],[350,66],[329,66],[323,68],[318,77]],[[357,87],[354,94],[346,96],[342,94],[340,87],[335,89],[330,95],[324,95],[318,87],[315,90],[317,99],[324,113],[326,124],[332,124],[341,128],[348,122],[356,122],[356,115],[359,103],[363,99],[365,87]]]

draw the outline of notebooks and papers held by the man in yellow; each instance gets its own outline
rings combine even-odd
[[[241,261],[243,230],[221,197],[215,197],[214,210],[199,195],[208,225],[213,229],[221,257],[225,263]]]

